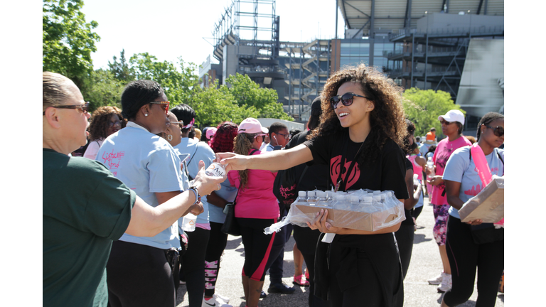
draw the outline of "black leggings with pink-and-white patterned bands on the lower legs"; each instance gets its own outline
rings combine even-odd
[[[210,237],[205,254],[205,296],[213,296],[220,271],[220,257],[228,244],[228,235],[220,229],[223,224],[210,222]]]

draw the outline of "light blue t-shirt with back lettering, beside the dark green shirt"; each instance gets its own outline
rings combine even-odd
[[[183,189],[180,158],[173,147],[133,122],[108,136],[95,159],[152,207],[159,205],[155,193]],[[119,240],[169,249],[176,238],[178,222],[154,237],[134,237],[126,233]]]

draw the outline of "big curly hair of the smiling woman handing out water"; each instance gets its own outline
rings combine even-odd
[[[358,163],[363,165],[376,161],[387,139],[392,139],[398,146],[404,148],[407,129],[402,107],[402,87],[396,85],[382,72],[365,64],[357,67],[348,66],[328,78],[321,93],[321,123],[307,138],[312,139],[315,136],[343,131],[336,112],[330,104],[330,98],[336,96],[339,87],[346,82],[355,82],[360,85],[365,96],[369,97],[368,99],[375,106],[370,112],[371,131],[366,138],[370,141],[365,142],[366,145],[358,157]]]

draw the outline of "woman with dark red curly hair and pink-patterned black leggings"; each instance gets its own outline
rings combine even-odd
[[[232,152],[233,140],[237,136],[237,124],[232,122],[223,122],[215,128],[216,132],[213,139],[210,140],[210,148],[215,153]],[[211,129],[211,128],[209,128]],[[208,131],[208,129],[207,129]],[[225,222],[225,213],[223,209],[228,203],[232,203],[237,194],[237,188],[230,185],[230,181],[220,183],[222,188],[210,193],[207,196],[210,236],[208,237],[207,251],[205,252],[205,296],[203,299],[208,305],[230,306],[223,303],[229,303],[230,299],[215,293],[216,281],[218,280],[218,271],[220,270],[220,257],[224,252],[225,245],[228,243],[228,235],[220,229]],[[212,301],[210,301],[212,300]]]

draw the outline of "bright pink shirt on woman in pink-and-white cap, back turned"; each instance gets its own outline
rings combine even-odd
[[[261,151],[254,153],[262,154]],[[279,203],[273,194],[273,182],[277,173],[249,170],[247,186],[239,190],[235,203],[235,217],[276,219],[279,217]],[[239,171],[229,171],[232,186],[240,189]]]

